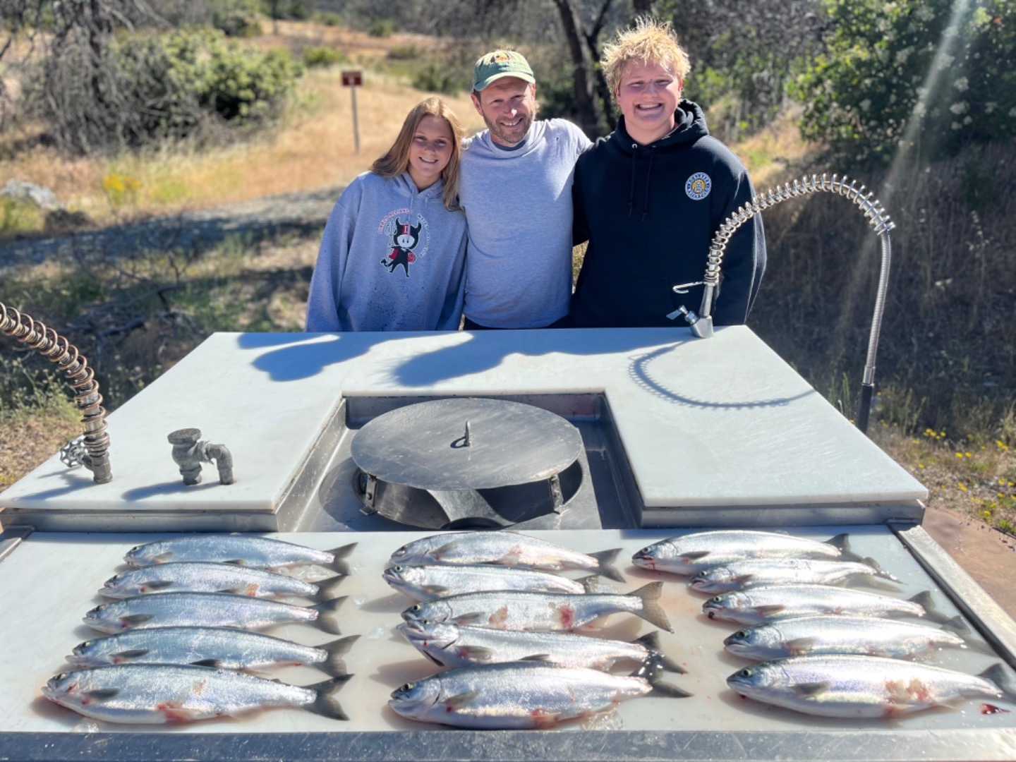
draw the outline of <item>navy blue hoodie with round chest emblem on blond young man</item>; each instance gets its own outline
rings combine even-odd
[[[571,302],[576,327],[665,326],[685,305],[699,312],[713,234],[755,194],[748,171],[709,135],[702,110],[682,101],[677,127],[639,145],[625,130],[600,138],[575,165],[575,242],[588,240]],[[765,270],[765,236],[756,214],[727,244],[713,304],[717,325],[748,318]]]

